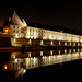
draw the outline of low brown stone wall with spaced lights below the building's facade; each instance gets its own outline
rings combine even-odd
[[[12,44],[21,45],[56,45],[56,46],[82,46],[82,43],[60,42],[60,40],[45,40],[45,39],[27,39],[27,38],[11,38]]]

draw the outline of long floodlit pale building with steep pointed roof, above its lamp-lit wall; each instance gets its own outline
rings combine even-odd
[[[3,32],[10,34],[12,38],[12,43],[14,42],[14,38],[16,39],[16,43],[23,44],[22,40],[30,45],[32,43],[35,43],[36,45],[73,45],[73,46],[80,46],[82,45],[82,36],[69,34],[69,33],[62,33],[50,31],[50,30],[44,30],[38,27],[28,26],[24,19],[21,21],[16,12],[14,11],[13,16],[9,17],[9,23],[3,26]],[[42,40],[30,40],[27,39],[17,39],[17,38],[27,38],[27,39],[42,39]],[[46,43],[47,40],[47,43]],[[56,42],[58,40],[58,42]]]

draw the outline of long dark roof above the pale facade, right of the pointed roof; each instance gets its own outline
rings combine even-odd
[[[38,27],[38,28],[45,28],[45,30],[50,30],[50,31],[57,31],[57,32],[63,32],[63,33],[70,33],[70,34],[75,34],[75,35],[82,35],[81,32],[74,31],[72,28],[67,28],[63,26],[48,26],[48,25],[42,25],[38,23],[34,23],[34,22],[26,22],[28,26],[33,26],[33,27]]]

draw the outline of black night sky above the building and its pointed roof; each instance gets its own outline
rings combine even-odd
[[[5,2],[0,4],[0,25],[15,9],[21,19],[34,23],[63,26],[82,32],[82,2],[66,0],[55,2]]]

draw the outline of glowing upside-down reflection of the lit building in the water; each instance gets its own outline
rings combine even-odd
[[[3,66],[3,70],[19,71],[17,75],[23,75],[28,69],[61,65],[81,58],[82,49],[11,52],[10,61]]]

